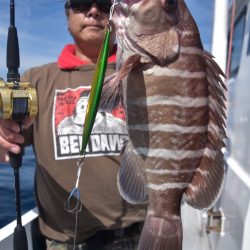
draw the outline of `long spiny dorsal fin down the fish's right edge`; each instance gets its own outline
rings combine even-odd
[[[221,149],[225,146],[225,91],[220,76],[225,76],[212,55],[203,53],[209,89],[209,123],[207,145],[203,157],[185,191],[187,203],[198,209],[211,207],[218,198],[224,180],[224,159]]]

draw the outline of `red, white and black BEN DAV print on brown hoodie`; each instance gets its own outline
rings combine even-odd
[[[54,109],[55,158],[79,156],[84,121],[87,112],[89,88],[57,90]],[[127,140],[126,124],[121,110],[112,114],[97,112],[92,129],[88,156],[119,154]]]

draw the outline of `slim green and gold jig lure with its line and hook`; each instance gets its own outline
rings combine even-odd
[[[77,225],[78,225],[78,213],[82,209],[82,203],[81,203],[81,196],[80,196],[80,190],[78,188],[79,182],[80,182],[80,176],[81,171],[84,166],[84,160],[86,155],[86,148],[88,145],[88,141],[90,138],[90,134],[92,132],[92,128],[94,125],[95,117],[97,114],[100,98],[101,98],[101,92],[102,92],[102,86],[104,82],[104,76],[106,73],[106,66],[108,62],[108,56],[109,56],[109,41],[110,41],[110,34],[112,31],[111,26],[111,19],[114,14],[114,7],[117,4],[117,1],[114,0],[111,8],[110,8],[110,14],[109,19],[107,23],[107,27],[105,29],[105,37],[103,40],[102,48],[99,53],[99,57],[96,64],[96,69],[94,72],[94,77],[91,85],[91,91],[88,99],[88,106],[84,121],[84,127],[83,127],[83,135],[82,135],[82,145],[80,149],[80,159],[77,161],[77,178],[75,187],[72,189],[72,191],[69,194],[68,199],[64,203],[64,208],[70,212],[75,214],[75,228],[74,228],[74,245],[73,250],[76,248],[76,237],[77,237]]]

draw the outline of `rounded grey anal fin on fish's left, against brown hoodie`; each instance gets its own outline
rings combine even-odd
[[[120,195],[132,204],[146,203],[148,193],[139,158],[128,143],[122,153],[121,168],[117,177]]]

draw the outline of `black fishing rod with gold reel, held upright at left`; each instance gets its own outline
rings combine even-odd
[[[10,26],[7,38],[6,64],[8,68],[7,82],[0,81],[0,118],[12,119],[19,124],[22,134],[22,122],[29,116],[37,114],[36,90],[29,82],[20,82],[19,43],[17,29],[15,27],[15,1],[10,0]],[[10,165],[15,177],[15,205],[17,225],[14,230],[13,249],[28,250],[27,235],[22,225],[21,197],[19,168],[22,166],[24,153],[23,145],[19,145],[21,152],[14,154],[9,152]]]

